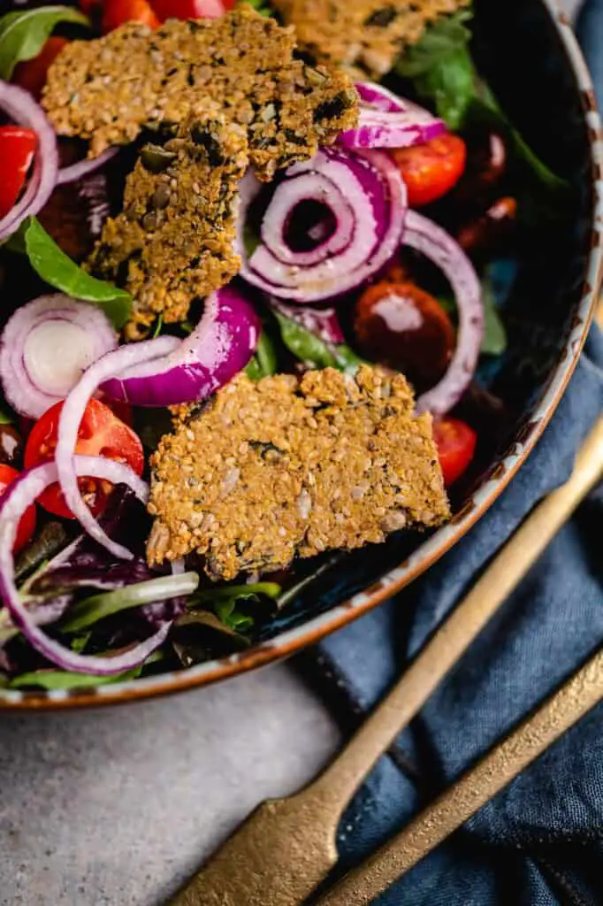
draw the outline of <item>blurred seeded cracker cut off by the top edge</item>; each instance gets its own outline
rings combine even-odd
[[[382,76],[426,25],[469,0],[271,0],[300,47],[321,63]]]

